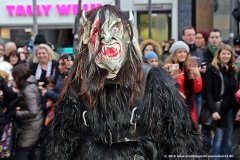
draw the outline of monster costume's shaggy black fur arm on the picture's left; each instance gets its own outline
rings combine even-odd
[[[78,147],[83,136],[83,105],[77,88],[80,88],[78,84],[72,84],[55,107],[54,118],[42,137],[40,159],[78,159]]]

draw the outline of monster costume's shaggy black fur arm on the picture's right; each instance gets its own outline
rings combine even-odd
[[[163,155],[203,154],[197,125],[175,80],[162,68],[153,68],[148,74],[142,113],[144,128]]]

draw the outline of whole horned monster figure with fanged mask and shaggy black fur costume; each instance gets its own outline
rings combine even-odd
[[[147,72],[132,20],[131,13],[128,20],[111,5],[83,13],[79,53],[43,136],[41,159],[160,160],[203,154],[175,80],[153,68],[143,83]],[[175,159],[189,159],[184,156]]]

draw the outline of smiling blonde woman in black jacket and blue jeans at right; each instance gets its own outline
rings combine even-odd
[[[205,78],[206,105],[216,121],[212,145],[213,155],[230,155],[231,135],[233,131],[232,107],[237,88],[237,66],[231,46],[223,45],[207,67]],[[215,102],[221,101],[217,110]],[[218,157],[214,157],[217,160]]]

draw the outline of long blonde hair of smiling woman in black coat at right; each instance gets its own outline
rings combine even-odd
[[[232,47],[231,47],[230,45],[228,45],[228,44],[223,44],[223,45],[221,45],[221,47],[220,47],[219,50],[217,51],[217,53],[216,53],[216,55],[215,55],[215,57],[214,57],[214,59],[213,59],[213,61],[212,61],[211,64],[212,64],[214,67],[216,67],[216,69],[217,69],[218,71],[220,71],[220,68],[219,68],[219,66],[218,66],[218,64],[221,63],[221,62],[220,62],[220,59],[219,59],[219,55],[220,55],[220,53],[221,53],[223,50],[230,51],[230,53],[231,53],[231,59],[230,59],[229,62],[231,63],[231,66],[233,67],[235,74],[237,74],[238,68],[237,68],[237,66],[236,66],[236,64],[235,64],[235,57],[234,57],[234,54],[233,54],[233,50],[232,50]],[[228,70],[228,65],[225,65],[225,67],[226,67],[227,70]]]

